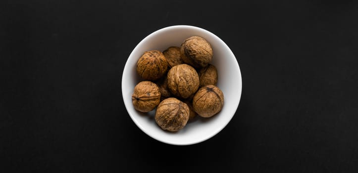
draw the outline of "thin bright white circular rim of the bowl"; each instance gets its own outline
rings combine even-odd
[[[164,27],[164,28],[161,28],[161,29],[158,29],[152,33],[150,33],[148,36],[146,36],[144,39],[142,39],[135,47],[134,49],[131,51],[131,53],[129,54],[127,60],[126,60],[126,63],[124,65],[124,69],[123,69],[123,72],[122,72],[122,82],[121,82],[121,87],[122,87],[122,99],[123,99],[123,103],[126,107],[126,110],[127,110],[127,113],[129,114],[129,116],[131,117],[132,121],[136,124],[136,126],[142,130],[144,133],[146,133],[147,135],[149,135],[150,137],[152,137],[153,139],[157,140],[157,141],[160,141],[160,142],[163,142],[163,143],[166,143],[166,144],[171,144],[171,145],[192,145],[192,144],[197,144],[197,143],[200,143],[200,142],[203,142],[207,139],[210,139],[211,137],[215,136],[217,133],[219,133],[221,130],[223,130],[227,125],[228,123],[232,120],[232,118],[234,117],[238,107],[239,107],[239,104],[240,104],[240,100],[241,100],[241,95],[242,95],[242,75],[241,75],[241,70],[240,70],[240,66],[239,66],[239,63],[238,63],[238,60],[236,59],[236,63],[235,63],[235,66],[237,66],[237,69],[238,69],[238,72],[239,72],[239,75],[238,75],[238,80],[239,80],[239,83],[241,85],[239,85],[239,91],[238,91],[238,94],[239,94],[239,98],[238,98],[238,102],[237,102],[237,105],[235,105],[235,112],[230,115],[230,119],[229,121],[225,122],[225,124],[223,124],[223,126],[221,126],[220,128],[218,128],[217,130],[215,130],[215,132],[211,133],[211,135],[208,135],[200,140],[195,140],[195,141],[190,141],[190,142],[186,142],[186,143],[175,143],[175,142],[171,142],[171,141],[165,141],[165,140],[161,140],[159,138],[157,138],[155,135],[153,135],[152,133],[148,132],[145,128],[143,128],[141,126],[140,123],[138,123],[138,121],[133,117],[133,115],[131,114],[131,112],[129,111],[129,106],[130,105],[127,105],[126,104],[126,100],[124,99],[124,91],[123,91],[123,86],[125,86],[125,81],[123,80],[123,75],[126,71],[128,71],[128,68],[129,67],[129,63],[128,61],[130,60],[130,57],[137,51],[137,49],[139,48],[139,46],[142,44],[142,43],[145,43],[147,42],[147,40],[149,40],[153,35],[156,35],[160,32],[163,32],[163,31],[166,31],[166,30],[171,30],[171,29],[178,29],[178,28],[186,28],[186,29],[195,29],[195,30],[200,30],[201,32],[205,32],[206,34],[208,35],[211,35],[211,37],[215,38],[216,40],[218,40],[219,42],[221,42],[220,44],[224,45],[230,52],[230,54],[236,59],[234,53],[232,52],[232,50],[230,49],[230,47],[225,43],[223,42],[218,36],[214,35],[213,33],[211,33],[210,31],[207,31],[203,28],[200,28],[200,27],[196,27],[196,26],[192,26],[192,25],[172,25],[172,26],[167,26],[167,27]]]

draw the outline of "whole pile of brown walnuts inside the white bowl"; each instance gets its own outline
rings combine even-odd
[[[134,108],[141,112],[156,108],[155,122],[168,131],[181,130],[196,115],[209,118],[220,112],[224,95],[215,86],[217,70],[209,64],[212,55],[210,44],[198,36],[180,47],[144,52],[137,62],[144,81],[134,88]]]

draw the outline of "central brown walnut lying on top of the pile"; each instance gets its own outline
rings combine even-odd
[[[168,72],[168,88],[178,97],[188,98],[199,88],[197,71],[188,64],[179,64]]]

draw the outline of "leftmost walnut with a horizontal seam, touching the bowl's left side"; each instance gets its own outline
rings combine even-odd
[[[132,103],[141,112],[152,111],[160,102],[159,88],[150,81],[142,81],[134,87]]]

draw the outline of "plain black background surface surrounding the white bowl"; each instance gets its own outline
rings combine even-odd
[[[0,172],[358,171],[351,1],[11,0],[0,8]],[[121,93],[133,48],[179,24],[220,37],[243,77],[232,121],[190,146],[142,132]]]

